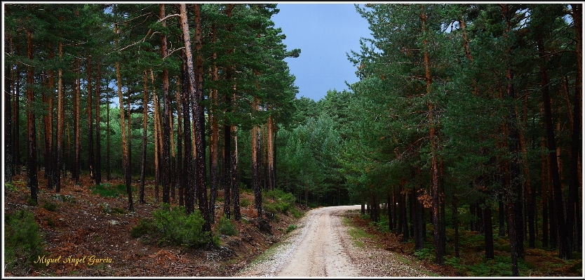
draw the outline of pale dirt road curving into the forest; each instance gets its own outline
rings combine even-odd
[[[376,263],[372,255],[354,247],[339,213],[359,208],[334,206],[307,212],[288,239],[236,276],[426,276],[412,265],[393,260],[394,253],[379,249],[384,255]]]

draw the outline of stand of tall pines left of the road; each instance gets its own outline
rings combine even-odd
[[[4,12],[7,182],[26,164],[36,201],[39,171],[40,187],[55,192],[62,178],[80,185],[81,173],[100,185],[105,171],[106,181],[126,182],[133,211],[133,177],[139,203],[154,179],[154,201],[161,186],[163,203],[178,196],[187,214],[198,205],[205,231],[219,188],[229,196],[225,215],[239,220],[238,134],[275,131],[297,93],[284,58],[300,49],[283,44],[276,4],[5,4]],[[261,140],[274,154],[274,134]]]

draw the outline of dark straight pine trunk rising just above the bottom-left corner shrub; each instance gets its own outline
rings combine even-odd
[[[27,47],[28,59],[32,60],[32,33],[27,30]],[[33,82],[34,73],[32,66],[27,67],[27,187],[30,189],[30,198],[37,204],[37,192],[39,190],[39,181],[36,177],[36,128],[34,116],[34,92]]]

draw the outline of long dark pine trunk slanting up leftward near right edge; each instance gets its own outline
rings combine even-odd
[[[571,247],[567,227],[565,226],[565,214],[563,206],[563,196],[561,194],[560,175],[558,171],[557,156],[556,156],[556,140],[553,128],[553,121],[551,116],[551,97],[549,93],[549,78],[546,73],[544,64],[546,62],[544,53],[544,43],[542,37],[538,38],[539,56],[542,59],[540,65],[540,76],[542,86],[542,98],[544,101],[544,121],[546,124],[546,142],[549,146],[549,157],[551,159],[551,175],[553,180],[553,200],[555,208],[555,218],[558,231],[559,241],[559,257],[564,260],[571,258]]]

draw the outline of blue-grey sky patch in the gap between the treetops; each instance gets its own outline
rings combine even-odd
[[[360,4],[363,6],[363,4]],[[281,27],[288,50],[300,48],[298,58],[286,58],[296,76],[301,96],[315,101],[329,89],[347,89],[345,81],[358,81],[356,68],[346,53],[360,50],[359,39],[370,37],[368,21],[356,12],[354,4],[278,4],[280,12],[272,17]]]

